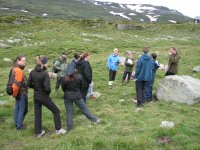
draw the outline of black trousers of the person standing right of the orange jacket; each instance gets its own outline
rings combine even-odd
[[[35,133],[42,132],[42,105],[48,108],[54,115],[54,125],[56,130],[61,128],[60,110],[53,103],[52,99],[47,95],[34,96],[34,112],[35,112]]]

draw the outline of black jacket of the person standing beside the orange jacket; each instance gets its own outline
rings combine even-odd
[[[51,85],[46,69],[41,69],[40,65],[36,66],[29,75],[28,86],[34,89],[34,96],[38,94],[48,96],[51,93]]]

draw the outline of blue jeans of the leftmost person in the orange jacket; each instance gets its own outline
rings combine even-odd
[[[22,94],[15,98],[14,122],[17,129],[23,127],[23,121],[28,112],[28,97]]]

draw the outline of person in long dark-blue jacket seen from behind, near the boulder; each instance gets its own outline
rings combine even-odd
[[[137,106],[141,107],[145,102],[145,87],[146,82],[152,80],[152,58],[147,53],[148,47],[143,48],[143,54],[138,59],[135,71],[135,84],[137,94]]]

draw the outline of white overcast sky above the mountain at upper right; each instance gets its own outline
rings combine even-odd
[[[176,9],[189,17],[200,16],[200,0],[96,0],[123,4],[152,4]]]

